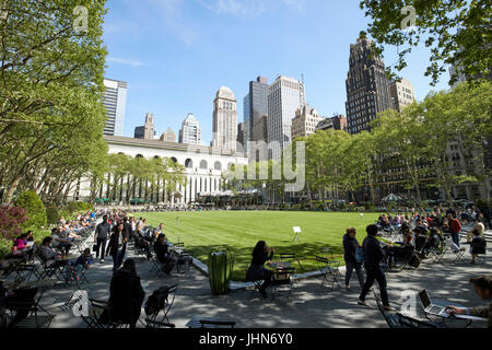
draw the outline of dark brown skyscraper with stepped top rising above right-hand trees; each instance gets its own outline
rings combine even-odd
[[[347,119],[349,132],[370,130],[368,122],[377,113],[393,108],[385,63],[373,56],[372,40],[358,38],[350,45],[350,69],[347,85]]]

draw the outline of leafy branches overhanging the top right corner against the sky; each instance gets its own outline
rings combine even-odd
[[[372,19],[370,34],[379,46],[394,45],[399,59],[394,69],[407,67],[406,57],[421,42],[431,49],[425,77],[435,85],[448,66],[468,79],[491,77],[492,67],[492,7],[489,0],[361,0],[361,9]],[[389,68],[390,70],[390,68]],[[395,75],[395,73],[393,73]]]

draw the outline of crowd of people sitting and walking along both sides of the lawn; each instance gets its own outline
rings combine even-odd
[[[92,249],[85,248],[79,257],[67,259],[74,241],[80,238],[81,231],[93,226],[99,217],[102,217],[102,222],[95,226]],[[490,228],[490,217],[484,214],[483,209],[415,210],[412,214],[380,214],[375,224],[366,228],[367,237],[362,244],[356,240],[356,230],[349,228],[342,240],[345,289],[351,289],[350,281],[355,270],[361,288],[358,304],[368,305],[367,293],[377,282],[384,308],[393,311],[387,292],[386,272],[388,267],[391,268],[398,260],[411,260],[412,257],[417,259],[415,264],[420,264],[420,259],[425,257],[429,249],[443,244],[446,235],[460,249],[465,222],[472,224],[472,229],[466,235],[466,241],[473,247],[473,242],[483,240],[485,228]],[[401,236],[401,242],[384,243],[378,237],[380,232],[390,234],[397,232]],[[395,234],[395,236],[398,235]],[[177,264],[189,262],[181,261],[186,257],[179,257],[171,252],[163,223],[157,228],[151,228],[144,218],[129,217],[126,211],[116,209],[87,212],[79,215],[77,220],[61,218],[52,229],[51,235],[43,240],[37,252],[47,267],[63,268],[67,275],[71,273],[75,278],[80,276],[81,270],[89,269],[95,261],[104,264],[105,258],[110,256],[113,259],[108,302],[110,312],[104,317],[136,327],[145,293],[137,275],[136,261],[126,259],[130,243],[136,249],[144,252],[148,258],[155,254],[160,268],[168,276]],[[11,255],[17,258],[21,255],[30,256],[33,245],[33,232],[23,233],[13,241]],[[92,253],[95,254],[95,257]],[[477,256],[472,249],[470,253],[475,264]],[[262,281],[258,285],[258,290],[263,298],[267,298],[267,288],[276,283],[273,271],[265,267],[266,262],[271,261],[274,255],[274,248],[268,246],[265,241],[258,242],[253,249],[251,262],[246,272],[248,281]],[[473,278],[470,282],[476,285],[479,295],[490,300],[490,278]],[[483,307],[469,310],[449,307],[449,313],[480,315],[490,319],[490,308],[484,310]]]

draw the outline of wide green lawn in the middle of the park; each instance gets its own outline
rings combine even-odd
[[[277,254],[295,253],[305,271],[317,269],[314,257],[323,247],[333,248],[343,262],[342,236],[347,228],[355,228],[362,243],[366,225],[378,217],[376,213],[365,213],[361,218],[360,213],[292,211],[144,212],[134,215],[145,218],[154,228],[163,222],[171,242],[184,242],[204,264],[210,250],[229,248],[234,257],[235,281],[246,279],[253,248],[261,240],[274,247]],[[293,243],[293,226],[301,226],[298,243]],[[298,272],[304,271],[298,269]]]

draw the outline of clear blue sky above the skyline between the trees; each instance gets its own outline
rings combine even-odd
[[[243,98],[258,75],[304,74],[307,103],[324,116],[345,114],[350,44],[368,23],[359,0],[108,0],[107,8],[105,77],[128,82],[124,135],[132,137],[148,112],[157,137],[168,127],[178,133],[194,113],[204,144],[216,91],[234,91],[243,121]],[[447,89],[447,74],[436,88],[423,75],[429,57],[419,47],[400,73],[419,101]],[[389,47],[385,62],[396,59]]]

